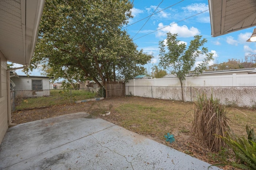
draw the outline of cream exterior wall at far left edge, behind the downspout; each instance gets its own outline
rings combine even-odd
[[[7,60],[0,51],[1,61],[1,94],[0,94],[0,143],[8,129],[8,103],[7,103]]]

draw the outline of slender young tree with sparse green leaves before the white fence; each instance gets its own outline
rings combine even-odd
[[[169,32],[167,33],[166,45],[164,41],[159,42],[159,65],[164,69],[170,67],[172,69],[170,72],[180,80],[182,101],[184,101],[182,81],[186,80],[186,75],[190,72],[193,73],[194,76],[201,74],[206,69],[208,63],[213,59],[213,54],[208,53],[208,49],[203,47],[207,39],[204,38],[201,40],[201,35],[195,35],[194,39],[190,41],[188,48],[185,43],[180,43],[180,41],[177,40],[177,36],[178,34]],[[168,51],[166,51],[166,47]],[[198,58],[199,55],[205,55],[206,58],[195,66],[196,58]],[[192,70],[193,67],[194,69]]]

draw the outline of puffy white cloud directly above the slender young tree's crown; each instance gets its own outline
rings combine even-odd
[[[200,34],[200,31],[195,27],[188,28],[188,26],[186,25],[179,26],[177,23],[170,23],[170,26],[168,27],[166,27],[166,25],[163,25],[163,23],[159,23],[157,29],[160,29],[156,33],[157,37],[166,36],[166,33],[168,32],[178,33],[178,36],[180,37],[193,37],[194,35]]]

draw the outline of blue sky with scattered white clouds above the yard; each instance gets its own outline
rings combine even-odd
[[[131,0],[133,18],[123,27],[144,52],[154,58],[144,65],[148,72],[154,64],[159,63],[159,41],[166,39],[166,33],[178,33],[177,39],[189,45],[194,35],[202,35],[208,40],[204,47],[213,53],[214,63],[223,63],[228,59],[244,59],[251,53],[256,53],[256,43],[246,42],[252,35],[254,27],[243,29],[219,37],[211,36],[210,14],[208,0]],[[152,15],[153,14],[153,15]],[[146,18],[148,17],[148,18]],[[198,57],[200,63],[204,56]],[[17,65],[16,65],[17,66]],[[21,70],[17,74],[24,75]],[[40,70],[34,70],[30,75],[40,75]]]

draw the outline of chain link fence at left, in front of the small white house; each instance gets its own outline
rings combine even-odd
[[[16,109],[31,109],[58,104],[69,104],[79,100],[104,97],[105,94],[105,89],[99,87],[10,91],[12,112],[16,111]]]

